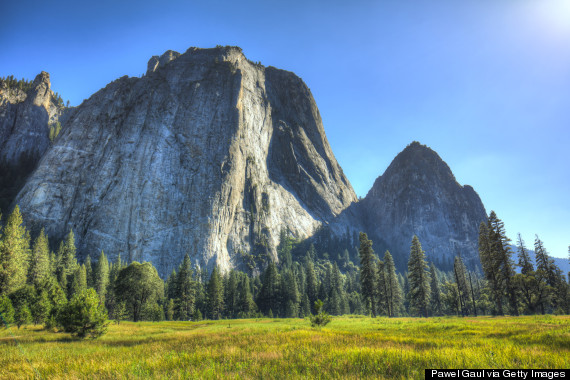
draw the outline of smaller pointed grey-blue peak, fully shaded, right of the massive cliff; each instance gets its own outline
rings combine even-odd
[[[388,249],[401,270],[414,234],[440,268],[452,269],[455,255],[479,265],[479,224],[487,218],[481,199],[424,145],[413,142],[400,152],[357,209],[366,231],[378,238],[376,252]]]

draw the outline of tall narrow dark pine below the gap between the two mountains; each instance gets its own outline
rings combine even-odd
[[[360,256],[360,286],[361,294],[366,307],[366,312],[376,316],[376,284],[377,274],[376,265],[374,264],[374,251],[372,250],[372,241],[364,232],[360,233],[360,248],[358,250]]]

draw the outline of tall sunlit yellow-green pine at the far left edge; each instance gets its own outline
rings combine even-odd
[[[30,238],[16,205],[6,221],[0,240],[0,295],[10,294],[26,283]]]

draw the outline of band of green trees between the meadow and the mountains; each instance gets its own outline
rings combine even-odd
[[[103,251],[96,260],[87,256],[81,263],[73,231],[55,252],[44,230],[32,241],[16,206],[0,229],[0,313],[5,323],[33,322],[77,335],[88,334],[86,326],[99,321],[97,335],[104,332],[108,317],[117,323],[302,318],[318,313],[319,304],[331,315],[388,317],[570,311],[568,282],[540,239],[535,242],[536,268],[520,236],[514,264],[503,223],[494,212],[480,227],[482,273],[468,270],[459,256],[453,271],[440,271],[428,264],[417,236],[407,271],[398,273],[389,251],[380,259],[365,233],[358,238],[353,247],[358,265],[348,252],[331,259],[314,244],[301,257],[293,255],[304,243],[281,231],[279,261],[269,261],[259,275],[222,273],[218,267],[207,271],[193,266],[186,254],[163,280],[149,262],[126,263],[120,255],[110,262]],[[81,310],[91,314],[72,320]]]

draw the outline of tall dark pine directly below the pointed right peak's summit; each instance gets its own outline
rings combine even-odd
[[[410,260],[408,261],[408,280],[410,283],[410,308],[427,318],[431,297],[429,270],[425,252],[416,235],[412,239]]]

